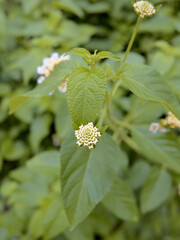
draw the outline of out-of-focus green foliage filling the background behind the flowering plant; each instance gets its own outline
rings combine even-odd
[[[144,133],[135,132],[133,139],[138,146],[134,142],[129,142],[132,148],[123,146],[127,151],[123,152],[120,175],[138,205],[145,209],[139,221],[124,219],[123,213],[116,217],[100,204],[69,232],[59,181],[59,147],[71,128],[65,94],[56,91],[51,97],[31,100],[15,114],[8,115],[9,99],[36,85],[36,68],[52,52],[85,47],[122,55],[137,19],[132,3],[130,0],[0,0],[1,240],[180,239],[177,191],[180,176],[163,172],[149,162],[147,155],[151,150],[141,149],[142,154],[138,151],[144,141],[160,144],[153,137],[147,140]],[[152,3],[162,3],[162,8],[151,19],[143,20],[127,61],[154,66],[180,100],[180,1]],[[107,63],[116,67],[111,61],[103,65]],[[166,113],[159,104],[147,104],[125,89],[118,91],[113,111],[120,119],[126,115],[131,123],[146,127]],[[167,150],[169,159],[176,154],[180,161],[179,133],[170,135],[173,142],[164,143],[166,149],[162,152]],[[152,172],[159,176],[154,194],[162,191],[162,199],[149,207],[148,202],[141,204],[141,198]]]

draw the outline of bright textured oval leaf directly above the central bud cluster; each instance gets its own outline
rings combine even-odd
[[[73,70],[68,80],[67,100],[75,124],[87,124],[96,119],[105,91],[105,76],[100,68],[78,67]]]

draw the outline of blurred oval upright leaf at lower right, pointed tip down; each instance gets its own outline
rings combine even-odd
[[[141,192],[142,212],[147,213],[159,207],[168,198],[171,185],[172,179],[167,171],[153,168]]]

